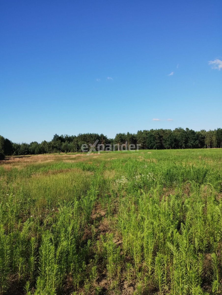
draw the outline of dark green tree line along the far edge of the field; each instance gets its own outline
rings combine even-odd
[[[98,133],[84,133],[76,135],[57,135],[51,141],[37,141],[31,143],[14,143],[0,135],[0,159],[9,155],[36,155],[43,153],[81,152],[83,144],[122,145],[125,142],[140,145],[141,149],[185,149],[185,148],[221,148],[222,129],[200,130],[181,127],[171,129],[139,130],[137,133],[117,133],[115,138],[108,138]],[[116,148],[117,149],[117,148]]]

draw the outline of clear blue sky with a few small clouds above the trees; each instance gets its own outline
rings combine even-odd
[[[221,0],[1,0],[0,134],[222,127],[221,11]]]

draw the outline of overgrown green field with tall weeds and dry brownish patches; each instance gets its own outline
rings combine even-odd
[[[0,294],[221,294],[222,150],[0,164]]]

